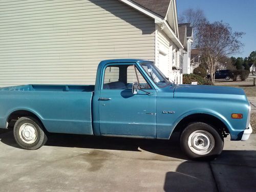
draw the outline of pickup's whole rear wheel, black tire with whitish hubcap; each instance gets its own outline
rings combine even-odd
[[[37,150],[47,141],[42,124],[33,117],[20,117],[13,129],[17,144],[26,150]]]

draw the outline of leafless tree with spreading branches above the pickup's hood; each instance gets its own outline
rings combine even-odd
[[[201,60],[206,63],[211,81],[215,81],[216,65],[223,57],[239,53],[243,44],[239,38],[242,32],[232,32],[231,27],[223,22],[203,22],[200,24],[197,38],[201,51]]]

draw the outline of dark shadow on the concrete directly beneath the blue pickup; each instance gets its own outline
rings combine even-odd
[[[13,138],[13,133],[11,131],[8,133],[0,134],[0,139],[2,143],[20,148],[16,144]],[[187,159],[183,152],[180,150],[177,136],[174,136],[172,140],[169,141],[155,139],[96,137],[72,134],[50,134],[48,136],[48,141],[45,145],[136,152],[144,150],[167,157],[185,160]]]

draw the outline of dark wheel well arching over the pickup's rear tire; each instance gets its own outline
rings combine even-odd
[[[38,120],[41,125],[43,126],[42,129],[45,129],[44,124],[42,123],[42,121],[38,118],[37,115],[35,115],[34,113],[30,112],[30,111],[26,111],[26,110],[19,110],[19,111],[15,111],[12,112],[11,115],[9,115],[8,119],[7,119],[7,129],[12,129],[14,127],[15,122],[20,118],[20,117],[33,117],[36,120]]]

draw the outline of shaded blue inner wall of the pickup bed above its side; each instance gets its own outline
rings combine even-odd
[[[69,91],[69,92],[93,92],[94,86],[81,85],[48,85],[48,84],[26,84],[24,86],[12,86],[0,88],[0,91]]]

